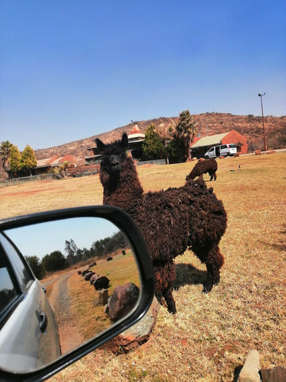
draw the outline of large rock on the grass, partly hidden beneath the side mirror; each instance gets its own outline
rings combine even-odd
[[[159,308],[159,302],[156,297],[154,297],[148,312],[146,312],[146,315],[144,315],[140,321],[120,333],[120,335],[104,343],[101,348],[109,350],[114,354],[120,354],[122,352],[126,353],[136,350],[139,346],[142,346],[150,338],[157,321]]]

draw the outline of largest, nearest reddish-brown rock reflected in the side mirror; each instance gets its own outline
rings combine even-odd
[[[116,286],[109,300],[109,318],[111,321],[115,322],[125,317],[135,306],[138,296],[139,288],[131,282]]]

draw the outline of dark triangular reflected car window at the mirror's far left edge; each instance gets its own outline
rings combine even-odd
[[[17,292],[8,271],[3,249],[0,246],[0,315],[15,297],[17,297]]]

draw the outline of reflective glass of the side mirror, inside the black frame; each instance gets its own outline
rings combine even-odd
[[[0,368],[51,363],[126,317],[139,298],[131,246],[109,220],[23,226],[0,233],[0,242]]]

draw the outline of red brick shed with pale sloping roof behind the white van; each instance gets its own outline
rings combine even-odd
[[[214,136],[197,137],[195,143],[190,147],[192,158],[203,158],[208,149],[217,145],[226,145],[227,143],[234,143],[236,151],[239,154],[248,152],[248,140],[236,130],[229,131],[228,133],[216,134]]]

